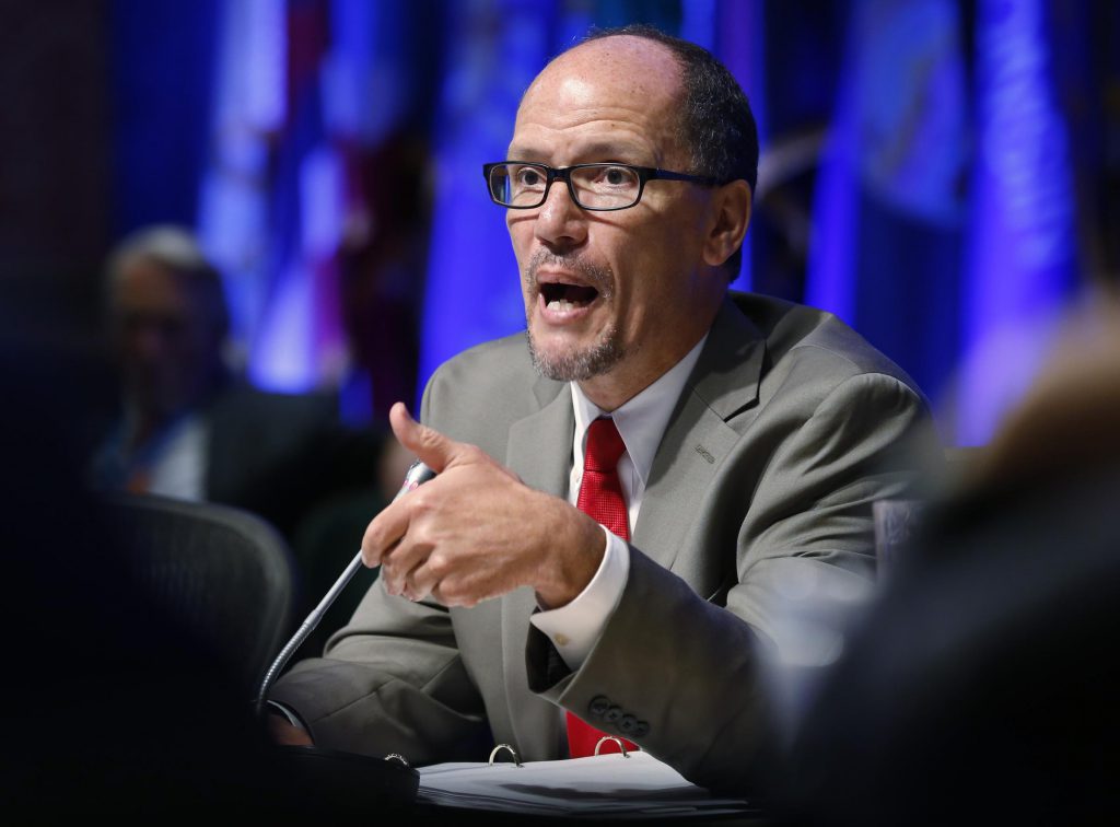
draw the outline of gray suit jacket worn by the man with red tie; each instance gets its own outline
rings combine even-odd
[[[563,496],[566,389],[539,378],[512,336],[441,366],[423,419]],[[559,705],[698,783],[741,784],[765,727],[768,598],[822,567],[872,576],[871,502],[905,492],[912,437],[936,443],[921,393],[851,329],[734,295],[662,438],[620,602],[578,671],[530,624],[528,588],[446,610],[379,583],[326,657],[298,663],[273,697],[320,745],[414,763],[477,761],[494,742],[526,760],[562,756]]]

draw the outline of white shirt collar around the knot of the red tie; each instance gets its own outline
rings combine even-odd
[[[706,333],[680,362],[609,415],[584,394],[578,382],[571,382],[571,402],[576,414],[573,452],[576,466],[582,467],[584,464],[584,445],[587,442],[588,426],[601,416],[609,416],[615,420],[615,427],[618,428],[618,434],[622,436],[623,443],[626,444],[626,453],[629,455],[631,462],[634,463],[642,485],[645,485],[650,478],[650,468],[653,467],[653,457],[657,453],[661,437],[664,435],[669,417],[673,412],[673,406],[676,405],[681,391],[684,390],[684,382],[692,373],[697,360],[700,359],[700,351],[703,350],[707,341],[708,334]]]

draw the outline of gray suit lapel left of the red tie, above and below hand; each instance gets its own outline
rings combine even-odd
[[[571,472],[571,442],[576,421],[568,385],[540,380],[535,392],[544,407],[510,428],[506,465],[530,487],[563,496]],[[536,607],[531,588],[502,598],[502,661],[505,669],[510,723],[523,756],[557,753],[560,719],[556,706],[531,693],[525,670],[529,616]]]

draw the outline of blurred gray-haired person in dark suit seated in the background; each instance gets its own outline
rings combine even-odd
[[[138,231],[105,277],[121,411],[95,487],[244,508],[291,537],[325,496],[374,484],[381,440],[344,429],[332,396],[264,392],[226,365],[222,279],[188,231]]]

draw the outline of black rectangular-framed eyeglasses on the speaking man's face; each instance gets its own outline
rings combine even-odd
[[[629,164],[577,164],[553,169],[544,164],[501,161],[484,164],[491,201],[511,210],[533,210],[549,197],[553,182],[568,185],[568,194],[584,210],[626,210],[642,199],[647,180],[685,180],[713,186],[715,178],[671,173]]]

